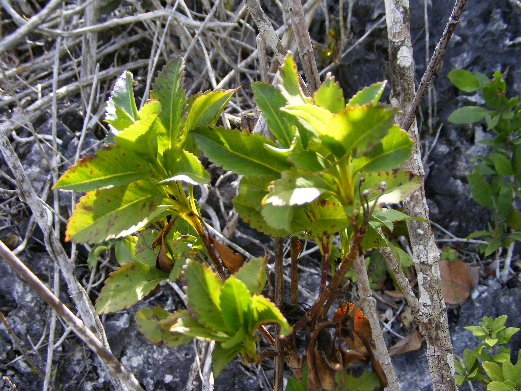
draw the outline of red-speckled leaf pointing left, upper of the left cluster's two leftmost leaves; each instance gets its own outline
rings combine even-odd
[[[150,163],[119,145],[109,144],[83,156],[62,175],[53,189],[89,191],[127,185],[153,175]]]

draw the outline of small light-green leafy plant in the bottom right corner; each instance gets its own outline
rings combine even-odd
[[[521,389],[521,350],[516,364],[512,364],[510,349],[500,346],[506,344],[512,335],[519,331],[518,327],[504,326],[507,316],[496,319],[483,316],[480,326],[467,326],[467,330],[483,340],[473,350],[465,349],[463,359],[454,360],[456,384],[465,380],[477,381],[487,385],[490,391],[517,391]]]

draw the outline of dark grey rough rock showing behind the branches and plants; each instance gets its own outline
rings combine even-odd
[[[330,12],[336,4],[329,4]],[[452,0],[439,0],[429,7],[430,33],[429,56],[445,27],[446,20],[453,7]],[[347,7],[344,7],[344,9]],[[267,5],[267,9],[270,9]],[[370,27],[384,15],[383,2],[370,0],[356,0],[353,5],[352,38],[347,47],[358,40]],[[275,21],[281,23],[280,16],[272,15]],[[324,13],[319,8],[313,30],[313,38],[318,42],[324,41],[322,31]],[[320,27],[322,26],[322,27]],[[423,2],[411,2],[411,32],[414,40],[414,55],[416,61],[416,79],[419,80],[425,69],[425,23]],[[447,78],[447,74],[454,68],[464,68],[469,71],[480,71],[491,75],[495,70],[508,69],[506,81],[508,95],[521,94],[521,6],[518,0],[474,0],[468,2],[460,19],[448,51],[443,57],[443,67],[436,75],[433,105],[435,106],[432,127],[428,126],[427,106],[423,105],[421,113],[421,139],[430,146],[435,139],[436,132],[441,131],[436,144],[426,159],[427,179],[426,192],[432,221],[440,224],[457,237],[463,238],[469,233],[483,229],[489,218],[489,212],[477,205],[470,197],[466,175],[471,172],[470,158],[479,153],[486,153],[486,147],[477,144],[477,141],[486,136],[481,125],[453,125],[446,121],[449,114],[457,107],[472,103],[481,103],[474,94],[465,94],[458,91]],[[344,95],[350,96],[365,85],[387,78],[386,61],[387,33],[384,24],[375,29],[368,38],[358,45],[343,59],[342,65],[334,71]],[[66,158],[72,158],[76,152],[78,139],[69,128],[81,128],[81,117],[70,114],[63,119],[65,126],[58,127],[58,137],[63,140],[61,153]],[[37,131],[41,134],[51,134],[48,121],[41,121]],[[83,141],[84,148],[95,144],[100,135],[88,131]],[[25,136],[27,137],[27,136]],[[424,153],[425,153],[424,148]],[[48,169],[42,164],[42,154],[36,144],[24,144],[17,150],[26,172],[38,193],[41,193],[48,184]],[[2,162],[2,170],[10,175]],[[225,206],[231,207],[233,187],[229,181],[220,188],[224,197]],[[2,183],[8,184],[7,179]],[[2,186],[0,186],[2,187]],[[213,194],[213,193],[212,193]],[[217,198],[210,194],[209,204],[218,210]],[[66,215],[70,199],[62,197],[60,206],[63,215]],[[16,208],[15,208],[16,209]],[[6,241],[9,233],[15,233],[23,238],[29,224],[29,212],[20,206],[20,218],[14,219],[12,226],[0,230],[0,239]],[[221,221],[221,224],[224,223]],[[16,224],[16,226],[15,226]],[[240,231],[262,243],[272,245],[269,238],[256,233],[246,225],[240,223]],[[443,233],[439,233],[443,237]],[[53,274],[53,262],[45,252],[42,244],[42,234],[36,228],[28,242],[27,249],[19,254],[20,259],[44,282]],[[234,237],[233,241],[253,255],[261,255],[264,250],[251,241]],[[486,268],[491,260],[480,258],[476,248],[464,243],[454,243],[462,250],[465,261],[469,264],[480,265]],[[308,248],[311,248],[310,245]],[[521,251],[519,245],[515,248],[514,259],[518,260]],[[88,268],[85,265],[86,250],[80,248],[77,277],[86,281],[89,278]],[[316,260],[314,254],[302,259],[305,267],[314,268]],[[113,262],[113,261],[111,261]],[[115,263],[114,263],[115,264]],[[109,263],[110,265],[110,263]],[[480,274],[480,282],[474,288],[470,297],[461,306],[451,309],[448,313],[454,353],[462,355],[463,350],[475,344],[475,338],[464,326],[476,325],[482,316],[508,315],[508,326],[521,325],[521,275],[519,268],[514,266],[517,276],[513,275],[507,284],[499,283],[494,276]],[[104,273],[108,273],[106,270]],[[105,274],[98,274],[96,280],[102,280]],[[300,275],[300,284],[315,294],[318,290],[316,274],[303,271]],[[91,299],[95,300],[96,291],[93,288]],[[65,284],[62,284],[60,299],[72,308]],[[301,296],[302,300],[310,301]],[[162,286],[159,293],[152,294],[135,304],[132,308],[119,313],[104,316],[103,322],[114,354],[129,369],[147,390],[177,391],[184,388],[189,372],[195,359],[195,350],[192,343],[178,348],[166,348],[152,345],[137,331],[134,313],[143,306],[160,304],[166,310],[173,311],[180,299],[167,285]],[[398,301],[401,305],[401,301]],[[381,308],[385,311],[386,307]],[[46,328],[48,327],[49,309],[34,291],[22,283],[17,275],[4,262],[0,262],[0,310],[5,314],[7,322],[14,333],[22,339],[21,343],[28,350],[35,350],[38,355],[30,354],[31,359],[39,368],[44,368],[46,354]],[[61,324],[57,326],[57,335],[64,332]],[[401,333],[401,325],[394,322],[393,331]],[[397,341],[390,333],[386,333],[389,344]],[[512,338],[508,345],[517,351],[521,348],[521,333]],[[37,349],[33,349],[37,347]],[[407,352],[392,357],[396,373],[402,389],[422,390],[431,389],[425,359],[425,343],[416,351]],[[222,371],[215,380],[215,389],[228,390],[260,390],[269,389],[271,362],[263,365],[245,365],[234,361]],[[108,390],[109,382],[100,370],[100,363],[88,348],[80,344],[71,333],[55,351],[53,381],[57,388],[62,390]],[[19,390],[41,389],[42,381],[34,369],[24,358],[20,358],[20,351],[11,345],[4,327],[0,327],[0,374],[6,375]],[[464,386],[466,387],[466,386]],[[464,388],[462,389],[468,389]],[[7,390],[6,384],[0,382],[0,389]],[[190,388],[188,388],[190,389]]]

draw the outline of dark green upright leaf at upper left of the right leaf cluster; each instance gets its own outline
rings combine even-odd
[[[269,131],[283,148],[290,148],[295,136],[293,126],[296,126],[298,121],[293,115],[280,110],[280,107],[286,105],[286,99],[275,87],[261,81],[252,83],[252,91]]]

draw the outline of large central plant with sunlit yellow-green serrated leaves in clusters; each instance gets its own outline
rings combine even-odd
[[[240,256],[238,260],[237,254],[230,255],[208,235],[193,193],[193,186],[210,179],[196,157],[199,149],[211,161],[243,175],[233,204],[245,222],[273,237],[319,244],[319,297],[292,322],[293,331],[311,329],[313,341],[322,328],[330,327],[327,310],[360,252],[390,246],[401,261],[410,261],[378,228],[392,231],[396,222],[418,219],[382,206],[409,196],[420,179],[396,168],[411,153],[412,140],[393,125],[397,109],[378,103],[386,82],[364,88],[346,104],[338,83],[328,75],[312,97],[304,96],[288,55],[279,89],[252,83],[272,141],[215,125],[235,90],[207,91],[187,100],[183,79],[178,57],[159,73],[151,100],[138,111],[132,75],[123,73],[107,102],[111,130],[106,145],[70,167],[55,188],[87,191],[69,219],[66,240],[100,243],[93,256],[111,245],[127,249],[128,254],[118,258],[121,265],[105,281],[96,312],[129,308],[160,281],[182,279],[187,310],[171,314],[159,307],[145,308],[137,313],[137,323],[153,343],[176,346],[193,337],[215,340],[217,375],[238,354],[246,362],[259,359],[259,326],[276,323],[281,335],[291,329],[261,294],[266,259],[242,264]],[[137,238],[129,236],[134,231],[139,231]],[[338,248],[332,245],[336,235]],[[327,284],[329,267],[332,278]],[[263,331],[267,333],[261,327]],[[315,355],[315,344],[310,344],[308,352]],[[364,349],[371,350],[367,344]],[[283,349],[283,354],[298,357],[291,344]],[[369,357],[368,350],[357,355]],[[316,360],[320,357],[316,353]],[[328,359],[333,362],[337,356]],[[334,383],[333,374],[309,365],[308,388],[325,384],[323,376]],[[343,369],[337,365],[336,371]],[[384,384],[380,377],[380,388]]]

